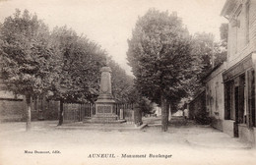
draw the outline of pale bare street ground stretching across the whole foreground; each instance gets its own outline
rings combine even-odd
[[[43,121],[32,122],[32,131],[26,133],[25,123],[2,123],[0,165],[254,165],[256,162],[255,149],[209,126],[172,118],[168,131],[162,133],[160,118],[143,120],[149,127],[134,131],[102,129],[107,125],[96,125],[94,130],[56,129],[57,121]],[[161,155],[165,157],[156,157]]]

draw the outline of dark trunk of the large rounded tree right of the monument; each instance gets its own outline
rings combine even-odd
[[[168,130],[168,108],[166,98],[161,94],[160,96],[161,105],[161,131],[166,132]]]

